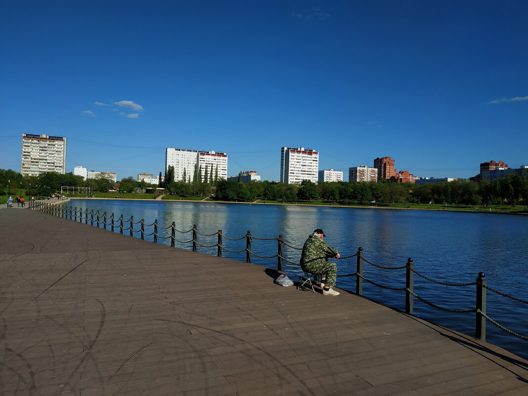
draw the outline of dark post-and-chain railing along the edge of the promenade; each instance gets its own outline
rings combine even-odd
[[[145,224],[145,220],[144,219],[141,219],[141,220],[135,222],[134,221],[134,216],[130,216],[129,220],[125,220],[122,215],[120,215],[119,219],[116,221],[115,217],[114,217],[114,213],[112,213],[110,216],[107,216],[106,212],[100,214],[99,211],[97,211],[96,213],[94,213],[93,210],[89,211],[88,209],[86,209],[86,210],[83,211],[82,208],[80,208],[78,210],[77,207],[71,208],[71,207],[66,207],[64,205],[59,206],[56,203],[39,202],[39,201],[30,202],[29,203],[29,208],[33,209],[33,210],[36,210],[36,211],[41,211],[41,212],[45,212],[45,213],[52,214],[52,215],[55,215],[55,216],[59,216],[59,217],[65,218],[65,219],[70,219],[70,220],[73,220],[73,221],[76,221],[76,222],[80,222],[80,223],[82,223],[83,220],[84,220],[84,224],[88,224],[88,221],[90,221],[91,225],[94,225],[93,222],[94,222],[94,216],[95,216],[96,227],[98,227],[98,228],[100,228],[101,223],[102,223],[103,229],[105,229],[105,230],[107,229],[107,225],[110,225],[112,232],[117,232],[116,231],[116,227],[117,227],[119,229],[119,233],[120,234],[122,234],[123,231],[130,231],[130,233],[129,233],[130,237],[134,237],[134,233],[139,233],[139,238],[143,239],[143,240],[145,239],[145,237],[149,237],[149,236],[153,235],[154,243],[158,243],[158,238],[163,239],[163,240],[170,239],[171,240],[171,247],[175,247],[175,242],[182,243],[182,244],[192,243],[192,251],[197,251],[197,247],[198,246],[203,247],[203,248],[214,248],[214,247],[216,247],[216,256],[218,256],[218,257],[222,257],[222,251],[228,251],[228,252],[231,252],[231,253],[246,252],[246,262],[248,262],[248,263],[251,262],[251,256],[255,256],[255,257],[258,257],[258,258],[262,258],[262,259],[277,258],[277,270],[278,271],[283,271],[283,268],[285,266],[285,262],[287,263],[286,265],[295,266],[297,268],[300,267],[299,260],[294,262],[294,261],[288,260],[285,257],[284,246],[286,246],[286,247],[288,247],[288,248],[293,250],[293,251],[288,252],[288,253],[293,253],[295,251],[302,250],[303,248],[291,246],[291,244],[285,242],[284,239],[282,239],[282,235],[279,235],[278,238],[258,238],[258,237],[253,237],[251,235],[251,231],[248,230],[248,232],[245,235],[242,235],[242,237],[240,237],[240,238],[229,238],[229,237],[227,237],[227,235],[223,234],[222,230],[218,230],[218,231],[210,233],[210,234],[199,232],[196,229],[196,224],[194,224],[193,227],[190,230],[181,231],[181,230],[176,229],[175,222],[172,222],[172,224],[169,225],[168,227],[159,227],[157,219],[154,220],[154,222],[152,224]],[[84,218],[83,218],[83,216],[84,216]],[[101,221],[101,219],[102,219],[102,221]],[[107,223],[107,220],[110,220],[110,221]],[[129,223],[129,227],[126,227],[126,228],[124,227],[124,223],[125,222]],[[138,230],[134,230],[134,224],[140,224],[140,227],[139,227]],[[154,230],[153,230],[153,232],[146,233],[145,232],[145,227],[154,227]],[[161,234],[159,234],[159,230],[163,230],[165,232],[168,232],[167,230],[171,230],[170,231],[170,235],[168,235],[168,236],[161,235]],[[192,239],[190,239],[188,241],[178,240],[178,239],[176,239],[176,232],[181,233],[181,234],[192,232]],[[216,238],[216,243],[213,243],[213,244],[200,243],[199,241],[197,241],[197,235],[201,235],[202,237],[205,237],[205,238],[213,237],[214,235],[216,235],[216,237],[217,237]],[[246,239],[246,248],[245,249],[241,249],[241,250],[228,249],[227,247],[224,246],[223,239],[227,239],[229,241],[239,241],[239,240],[242,240],[242,239]],[[257,254],[251,248],[251,243],[252,243],[253,239],[259,240],[259,241],[277,241],[277,254],[274,254],[273,256],[262,256],[260,254]],[[366,281],[366,282],[368,282],[371,285],[374,285],[376,287],[380,287],[380,288],[383,288],[383,289],[398,290],[398,291],[404,290],[405,291],[405,313],[407,313],[407,314],[410,314],[410,315],[413,314],[414,297],[416,297],[418,300],[422,301],[422,303],[425,303],[425,304],[427,304],[427,305],[429,305],[429,306],[431,306],[433,308],[436,308],[436,309],[439,309],[439,310],[442,310],[442,311],[445,311],[445,312],[451,312],[451,313],[475,313],[476,314],[475,338],[477,338],[478,340],[486,340],[486,320],[487,320],[488,322],[493,323],[498,328],[503,329],[508,334],[511,334],[511,335],[514,335],[514,336],[516,336],[518,338],[521,338],[521,340],[528,341],[528,337],[513,332],[512,330],[510,330],[510,329],[504,327],[503,325],[495,322],[495,320],[493,320],[492,318],[487,316],[487,314],[486,314],[486,290],[490,290],[493,293],[496,293],[496,294],[501,295],[503,297],[507,297],[507,298],[513,299],[513,300],[518,301],[518,302],[523,303],[523,304],[528,304],[528,301],[520,299],[520,298],[516,298],[516,297],[513,297],[513,296],[510,296],[510,295],[507,295],[505,293],[502,293],[501,291],[498,291],[498,290],[492,289],[491,287],[488,287],[486,285],[485,274],[483,272],[479,272],[478,277],[476,278],[476,281],[474,281],[474,282],[450,283],[450,282],[443,282],[443,281],[431,279],[431,278],[429,278],[429,277],[427,277],[425,275],[420,274],[420,272],[418,272],[417,270],[414,269],[414,262],[413,262],[412,258],[408,258],[407,259],[407,263],[404,266],[397,266],[397,267],[396,266],[380,266],[380,265],[376,265],[373,262],[370,262],[369,260],[366,260],[363,257],[363,249],[360,247],[360,248],[357,249],[357,253],[352,254],[351,256],[341,257],[340,259],[343,260],[343,259],[349,259],[349,258],[353,258],[353,257],[356,257],[356,272],[354,272],[353,274],[337,274],[337,276],[338,277],[355,277],[355,280],[356,280],[356,291],[355,291],[355,293],[357,295],[359,295],[359,296],[363,296],[363,281]],[[406,285],[405,285],[405,287],[381,285],[381,284],[379,284],[378,282],[375,282],[372,279],[366,278],[363,275],[364,263],[367,263],[368,265],[371,265],[374,268],[378,268],[378,269],[382,269],[382,270],[402,270],[402,269],[405,269],[405,271],[406,271]],[[445,307],[441,307],[439,305],[431,303],[430,301],[426,300],[425,298],[420,297],[414,291],[413,274],[416,274],[420,278],[425,279],[425,280],[427,280],[429,282],[432,282],[432,283],[437,284],[437,285],[442,285],[442,286],[448,286],[448,287],[476,286],[475,307],[467,308],[467,309],[451,309],[451,308],[445,308]]]

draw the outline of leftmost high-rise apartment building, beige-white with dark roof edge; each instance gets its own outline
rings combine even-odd
[[[22,134],[22,175],[64,174],[66,138],[62,136]]]

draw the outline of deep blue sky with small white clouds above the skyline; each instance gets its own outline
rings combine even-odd
[[[525,1],[24,1],[0,13],[0,168],[21,134],[68,138],[67,171],[164,172],[227,152],[279,180],[391,156],[416,176],[528,164]]]

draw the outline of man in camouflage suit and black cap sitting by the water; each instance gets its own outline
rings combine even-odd
[[[318,228],[308,237],[300,256],[301,268],[310,274],[321,275],[321,286],[325,296],[338,296],[339,292],[331,287],[335,286],[337,278],[337,265],[329,262],[328,258],[340,258],[339,252],[329,247],[323,240],[325,236],[322,229]]]

